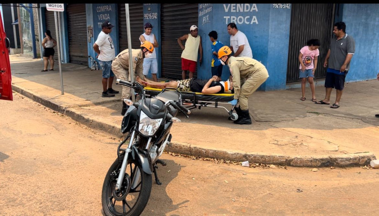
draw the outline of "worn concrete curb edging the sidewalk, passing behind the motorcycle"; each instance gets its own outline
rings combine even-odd
[[[120,132],[119,126],[109,125],[107,123],[96,121],[85,117],[83,114],[78,114],[64,107],[45,100],[33,94],[33,92],[23,89],[17,85],[12,84],[12,89],[50,109],[62,113],[76,122],[86,125],[89,128],[102,130],[117,137],[123,136]],[[263,154],[263,153],[239,153],[220,149],[207,149],[198,147],[196,145],[170,143],[166,146],[165,151],[173,153],[180,153],[189,156],[209,157],[216,159],[227,159],[231,161],[249,161],[249,163],[272,164],[279,166],[291,167],[356,167],[368,166],[371,160],[376,157],[370,152],[360,152],[352,154],[333,154],[333,155],[319,155],[319,156],[288,156],[279,154]]]

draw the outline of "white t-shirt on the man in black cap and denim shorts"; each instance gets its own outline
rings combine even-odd
[[[100,49],[100,55],[98,57],[98,60],[103,62],[114,60],[115,47],[113,45],[113,40],[109,34],[106,34],[103,31],[101,31],[95,43],[98,44]]]

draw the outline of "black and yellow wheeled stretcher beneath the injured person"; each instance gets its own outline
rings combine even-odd
[[[170,90],[169,88],[166,89],[160,89],[160,88],[152,88],[145,86],[145,95],[147,97],[154,97],[165,90]],[[215,108],[223,108],[229,115],[231,120],[237,120],[238,114],[233,113],[233,110],[235,109],[235,105],[231,105],[231,109],[228,110],[224,106],[224,104],[230,105],[228,101],[231,101],[234,99],[233,93],[221,93],[221,94],[203,94],[201,92],[186,92],[186,91],[180,91],[182,95],[182,104],[185,106],[188,110],[192,110],[195,108],[198,108],[201,110],[201,107],[215,107]]]

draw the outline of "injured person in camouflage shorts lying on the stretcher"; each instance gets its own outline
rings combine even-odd
[[[217,77],[212,77],[209,80],[190,78],[170,82],[154,82],[146,77],[144,80],[137,77],[136,81],[141,85],[160,89],[176,88],[179,91],[201,92],[203,94],[234,93],[232,81],[229,79],[227,81],[217,81]]]

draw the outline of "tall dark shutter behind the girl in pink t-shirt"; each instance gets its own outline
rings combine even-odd
[[[329,48],[334,24],[334,4],[292,4],[287,83],[299,79],[299,51],[310,39],[320,40],[320,55],[314,79],[324,78],[323,62]]]

